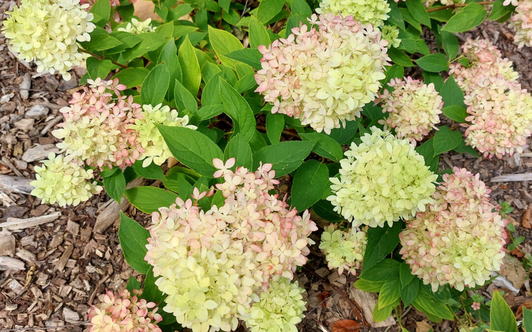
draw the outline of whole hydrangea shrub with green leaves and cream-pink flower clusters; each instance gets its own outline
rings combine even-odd
[[[468,31],[507,21],[530,47],[529,0],[165,0],[146,20],[134,3],[22,0],[1,28],[39,73],[86,69],[32,195],[66,206],[105,189],[152,217],[122,214],[144,292],[132,278],[101,295],[93,331],[298,330],[309,257],[380,292],[376,321],[409,305],[486,317],[465,290],[512,238],[479,175],[439,158],[527,146],[530,93]],[[137,177],[155,185],[127,187]]]

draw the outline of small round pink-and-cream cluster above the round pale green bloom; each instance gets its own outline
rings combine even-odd
[[[389,114],[381,124],[395,128],[398,138],[408,138],[414,146],[430,130],[438,130],[435,124],[439,123],[443,101],[434,83],[427,85],[408,76],[392,79],[388,86],[394,90],[390,93],[385,89],[380,96],[385,104],[383,113]]]

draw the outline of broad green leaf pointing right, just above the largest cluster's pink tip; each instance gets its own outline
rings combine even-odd
[[[253,169],[258,168],[262,161],[262,164],[273,165],[276,177],[286,175],[303,163],[315,143],[315,141],[284,141],[265,146],[253,155]]]

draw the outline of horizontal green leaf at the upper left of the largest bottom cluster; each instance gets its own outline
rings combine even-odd
[[[126,198],[140,211],[152,213],[175,203],[177,194],[152,186],[139,186],[126,190]]]

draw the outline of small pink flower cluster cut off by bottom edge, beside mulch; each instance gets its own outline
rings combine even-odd
[[[107,291],[98,300],[89,311],[89,332],[162,332],[157,323],[163,319],[155,303],[131,296],[128,290],[119,296]]]

